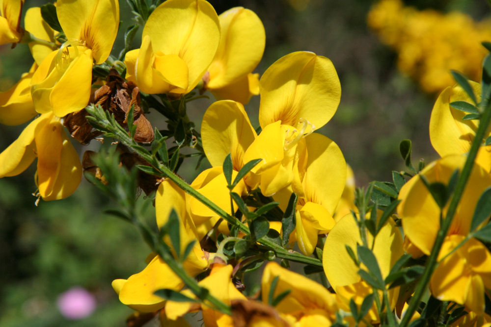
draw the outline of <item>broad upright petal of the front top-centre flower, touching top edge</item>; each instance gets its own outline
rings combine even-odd
[[[178,55],[186,63],[189,85],[180,93],[188,93],[201,80],[217,51],[218,16],[204,0],[167,0],[148,18],[142,39],[147,35],[154,51]]]

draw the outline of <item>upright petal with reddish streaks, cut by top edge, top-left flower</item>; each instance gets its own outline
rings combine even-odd
[[[56,15],[68,40],[83,41],[96,64],[106,61],[118,32],[118,0],[58,0]]]

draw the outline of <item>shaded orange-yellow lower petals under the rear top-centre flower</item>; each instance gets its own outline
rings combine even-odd
[[[217,100],[233,100],[247,104],[253,95],[259,94],[259,79],[257,76],[258,74],[249,73],[221,88],[212,89],[207,86],[207,89]]]

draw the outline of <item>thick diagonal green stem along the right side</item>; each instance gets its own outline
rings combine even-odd
[[[450,201],[447,214],[440,226],[440,230],[438,230],[435,244],[433,245],[432,252],[430,253],[430,256],[428,257],[428,260],[426,262],[423,276],[421,277],[421,279],[419,280],[416,286],[414,295],[412,296],[411,301],[409,302],[409,308],[406,311],[406,314],[404,315],[401,321],[400,324],[401,327],[408,326],[409,320],[412,318],[414,311],[416,311],[416,308],[419,306],[419,302],[421,301],[421,298],[425,293],[426,287],[430,282],[433,271],[435,270],[437,265],[436,260],[438,258],[438,253],[440,252],[441,246],[443,244],[445,236],[447,235],[448,229],[452,224],[452,220],[457,210],[457,205],[459,204],[462,194],[464,193],[465,184],[469,179],[470,172],[477,155],[477,151],[481,146],[481,142],[484,138],[486,129],[488,128],[490,121],[491,121],[491,101],[488,102],[488,104],[486,105],[486,109],[479,121],[479,127],[477,128],[476,136],[472,141],[470,151],[467,154],[467,159],[465,160],[464,168],[462,169],[462,174],[459,177],[459,180],[457,181],[457,185],[455,186],[454,196],[452,197],[452,201]]]

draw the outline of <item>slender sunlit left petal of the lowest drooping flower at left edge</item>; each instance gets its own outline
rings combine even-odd
[[[33,120],[7,149],[0,153],[0,177],[16,176],[29,167],[36,157],[34,137],[51,119],[45,114]]]

